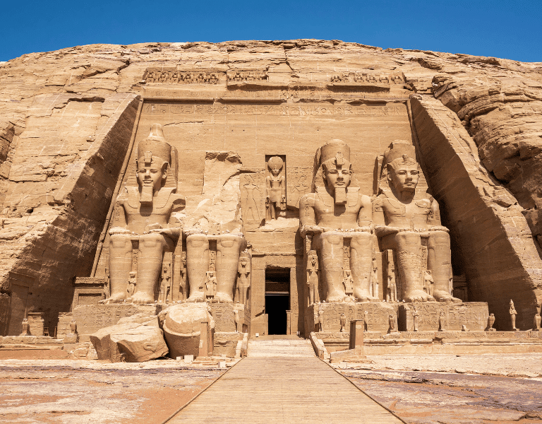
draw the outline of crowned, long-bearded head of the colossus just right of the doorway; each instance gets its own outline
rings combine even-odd
[[[324,183],[334,192],[335,204],[346,204],[346,189],[352,179],[350,148],[344,141],[331,140],[320,148]]]

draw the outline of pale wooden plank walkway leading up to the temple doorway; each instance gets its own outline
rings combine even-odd
[[[247,358],[168,424],[402,423],[316,358],[306,342],[251,342]]]

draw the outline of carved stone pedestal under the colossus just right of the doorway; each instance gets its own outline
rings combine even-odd
[[[386,302],[331,302],[315,303],[307,308],[307,319],[310,321],[314,315],[323,311],[323,323],[320,331],[338,333],[341,331],[341,314],[347,318],[344,334],[349,334],[349,322],[363,319],[366,331],[387,331],[390,329],[390,314],[397,322],[397,307],[399,303]],[[367,313],[365,313],[367,312]],[[397,326],[395,327],[397,329]],[[310,329],[315,331],[313,326]]]

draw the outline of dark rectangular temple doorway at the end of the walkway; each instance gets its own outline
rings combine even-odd
[[[267,268],[265,270],[267,334],[286,334],[287,310],[290,310],[290,269]]]

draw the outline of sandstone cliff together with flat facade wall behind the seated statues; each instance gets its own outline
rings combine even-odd
[[[103,242],[135,124],[148,134],[157,115],[183,146],[184,228],[243,230],[276,258],[253,263],[253,331],[263,332],[265,289],[255,283],[266,266],[299,265],[294,218],[315,147],[336,138],[378,146],[353,152],[371,195],[379,143],[410,137],[469,300],[488,302],[505,329],[513,298],[517,326],[530,328],[542,302],[541,71],[326,40],[89,45],[0,64],[0,334],[20,334],[25,311],[44,312],[49,331],[68,312],[71,282],[90,274]],[[164,98],[182,105],[170,110]],[[330,125],[351,113],[366,122]],[[381,123],[395,114],[396,124]],[[270,155],[284,156],[286,208],[265,224]],[[294,279],[291,331],[305,305]]]

